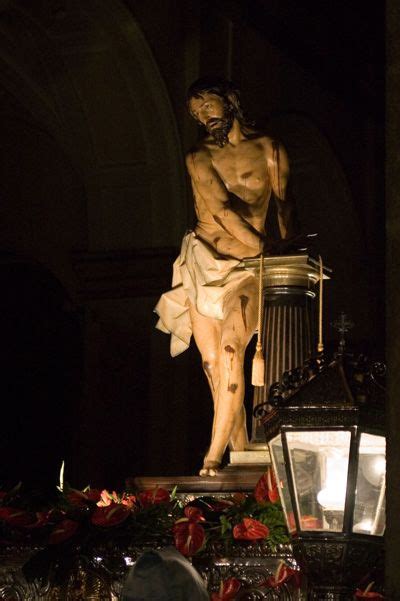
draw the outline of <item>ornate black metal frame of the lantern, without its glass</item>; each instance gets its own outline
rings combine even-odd
[[[273,411],[267,404],[256,408],[267,443],[281,437],[296,526],[291,532],[293,553],[309,582],[308,599],[352,599],[357,586],[366,587],[372,580],[379,586],[383,581],[383,536],[354,532],[353,518],[361,435],[385,433],[384,375],[382,363],[370,363],[363,356],[336,354],[331,361],[318,356],[285,372],[281,382],[271,387],[268,402]],[[287,433],[313,431],[351,435],[341,531],[301,528]]]

